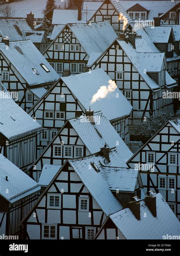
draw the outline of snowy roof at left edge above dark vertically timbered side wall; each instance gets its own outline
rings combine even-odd
[[[0,91],[0,133],[7,139],[13,139],[22,133],[27,133],[41,127],[16,102]]]

